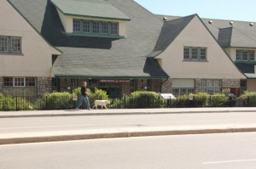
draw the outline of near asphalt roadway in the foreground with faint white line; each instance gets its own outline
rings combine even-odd
[[[1,169],[255,169],[256,132],[0,146]]]

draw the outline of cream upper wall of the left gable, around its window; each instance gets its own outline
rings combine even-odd
[[[51,47],[6,0],[0,0],[0,36],[21,37],[21,53],[0,54],[0,76],[52,76]],[[8,16],[8,17],[7,17]]]

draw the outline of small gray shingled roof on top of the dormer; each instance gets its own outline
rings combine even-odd
[[[131,20],[108,1],[102,0],[50,0],[63,14],[102,19]]]

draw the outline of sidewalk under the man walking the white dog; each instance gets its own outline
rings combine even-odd
[[[0,111],[0,118],[37,117],[37,116],[72,116],[72,115],[145,115],[145,114],[220,113],[220,112],[223,112],[223,113],[255,112],[256,113],[256,107]]]

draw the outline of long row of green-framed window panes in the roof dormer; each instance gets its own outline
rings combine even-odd
[[[99,35],[119,35],[119,23],[96,21],[96,20],[73,20],[73,32],[99,34]]]

